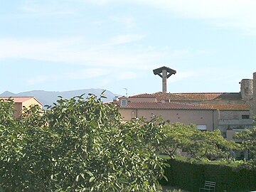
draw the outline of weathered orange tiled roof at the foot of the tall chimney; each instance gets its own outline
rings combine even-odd
[[[240,92],[156,92],[153,95],[157,100],[241,100]]]

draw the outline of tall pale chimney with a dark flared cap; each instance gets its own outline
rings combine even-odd
[[[157,68],[155,70],[153,70],[154,75],[159,75],[160,78],[162,78],[162,87],[163,93],[167,92],[167,79],[171,76],[171,75],[175,75],[176,74],[176,70],[173,70],[171,68],[167,68],[167,67],[161,67],[161,68]]]

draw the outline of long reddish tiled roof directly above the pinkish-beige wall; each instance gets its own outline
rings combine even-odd
[[[212,110],[200,105],[188,105],[174,102],[128,102],[121,109],[151,109],[151,110]]]

